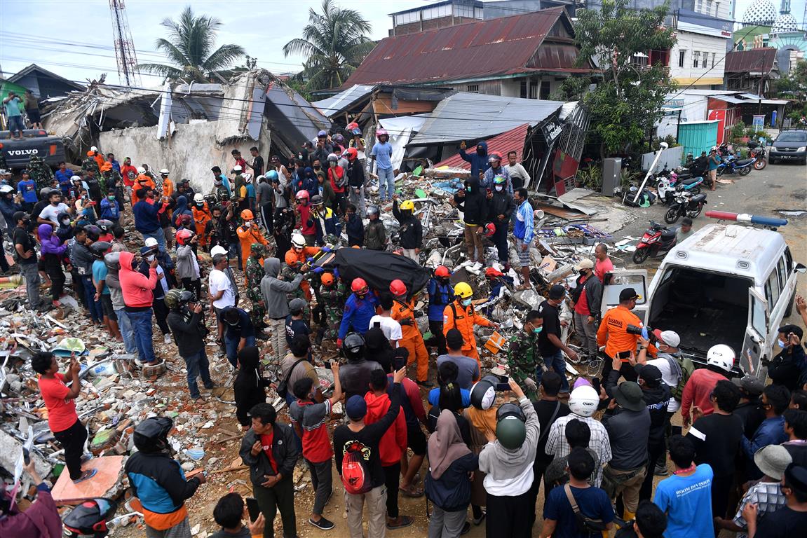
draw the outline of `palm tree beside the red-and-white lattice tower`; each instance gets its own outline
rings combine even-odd
[[[170,80],[187,82],[211,81],[215,71],[227,69],[245,55],[240,45],[227,44],[213,50],[215,34],[221,21],[205,15],[194,17],[186,6],[178,21],[163,19],[161,26],[169,31],[169,39],[157,40],[157,50],[165,53],[173,65],[140,64],[138,69]]]

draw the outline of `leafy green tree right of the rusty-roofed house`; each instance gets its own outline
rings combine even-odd
[[[650,51],[669,51],[675,44],[665,25],[667,5],[633,10],[627,0],[604,0],[600,10],[583,10],[575,23],[579,64],[589,58],[601,69],[601,80],[592,91],[579,78],[564,83],[566,97],[574,94],[592,113],[592,128],[601,141],[603,156],[628,153],[648,139],[662,115],[667,94],[675,89],[667,65],[640,65],[638,58]]]

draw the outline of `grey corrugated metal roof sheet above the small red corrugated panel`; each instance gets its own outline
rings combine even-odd
[[[560,101],[460,92],[443,99],[435,107],[409,145],[478,140],[510,131],[524,123],[533,127],[560,110],[563,104]]]

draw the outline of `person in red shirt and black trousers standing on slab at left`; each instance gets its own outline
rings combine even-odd
[[[65,464],[73,484],[94,477],[96,469],[82,472],[82,453],[87,440],[87,429],[78,419],[76,402],[82,381],[78,373],[82,366],[76,357],[70,357],[70,366],[59,373],[59,363],[51,352],[37,352],[31,357],[31,367],[40,374],[39,385],[45,407],[48,408],[48,426],[56,440],[65,448]],[[65,382],[73,382],[72,386]]]

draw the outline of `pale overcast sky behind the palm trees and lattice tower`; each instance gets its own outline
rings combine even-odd
[[[337,2],[362,12],[373,25],[374,40],[388,35],[389,13],[434,0],[349,0]],[[780,0],[772,0],[778,7]],[[792,0],[792,13],[801,22],[805,0]],[[154,41],[163,35],[160,23],[176,18],[188,4],[185,0],[126,0],[137,60],[161,63]],[[736,19],[751,0],[739,0]],[[319,10],[313,0],[195,0],[194,13],[217,17],[223,23],[217,44],[235,43],[258,59],[258,65],[273,73],[296,72],[302,58],[282,53],[288,40],[299,36],[307,23],[308,9]],[[118,83],[109,2],[107,0],[0,0],[0,69],[2,77],[36,63],[73,81],[85,81],[108,73],[107,81]],[[161,82],[144,75],[143,85]]]

